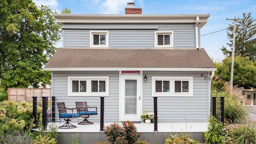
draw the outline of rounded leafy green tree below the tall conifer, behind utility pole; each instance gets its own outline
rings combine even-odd
[[[222,80],[230,81],[231,74],[231,57],[222,60],[222,66],[218,65],[218,73]],[[233,84],[240,87],[256,87],[256,64],[248,57],[242,58],[236,56],[234,58],[234,77]]]

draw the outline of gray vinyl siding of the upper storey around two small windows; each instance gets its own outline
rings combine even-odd
[[[173,31],[174,48],[195,48],[195,24],[65,24],[64,47],[90,48],[90,30],[108,30],[109,48],[154,48],[155,31]]]

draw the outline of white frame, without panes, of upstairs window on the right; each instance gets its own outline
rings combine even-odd
[[[158,45],[158,34],[170,35],[170,45]],[[155,31],[155,48],[173,48],[173,31]]]

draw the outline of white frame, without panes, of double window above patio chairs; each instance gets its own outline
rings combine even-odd
[[[86,81],[86,92],[72,92],[72,80]],[[92,92],[92,80],[105,80],[105,92]],[[108,76],[69,76],[68,77],[68,96],[108,96],[109,95],[109,77]]]

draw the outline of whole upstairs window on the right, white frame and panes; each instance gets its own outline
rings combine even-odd
[[[173,48],[173,31],[156,31],[155,48]]]

